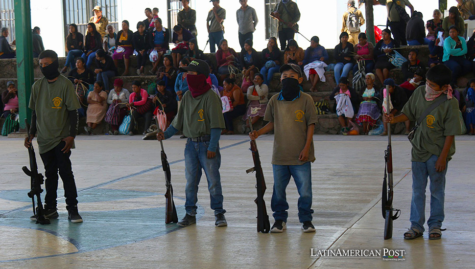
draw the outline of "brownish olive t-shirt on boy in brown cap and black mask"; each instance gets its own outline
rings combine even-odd
[[[272,164],[301,165],[300,152],[307,142],[307,129],[318,122],[312,97],[300,92],[293,101],[278,100],[279,94],[270,98],[265,110],[264,120],[274,123],[274,149]],[[315,161],[313,141],[310,145],[309,159]]]

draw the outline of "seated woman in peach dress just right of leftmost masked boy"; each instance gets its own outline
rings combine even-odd
[[[104,119],[107,112],[107,92],[104,91],[104,83],[96,81],[94,90],[88,95],[88,111],[86,122],[88,126],[84,127],[86,134],[91,135],[94,129]]]

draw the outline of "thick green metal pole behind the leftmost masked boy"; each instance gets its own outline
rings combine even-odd
[[[17,45],[17,78],[20,128],[25,129],[24,119],[31,121],[28,109],[31,86],[34,82],[33,45],[31,35],[30,0],[15,0],[15,36]]]

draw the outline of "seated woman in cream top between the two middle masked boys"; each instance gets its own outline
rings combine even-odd
[[[267,103],[269,99],[267,94],[269,88],[264,83],[264,76],[257,73],[252,81],[254,86],[247,88],[247,112],[242,117],[246,121],[246,127],[249,127],[249,117],[251,117],[252,124],[255,124],[265,114]]]

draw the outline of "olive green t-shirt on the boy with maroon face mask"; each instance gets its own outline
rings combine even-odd
[[[221,99],[213,90],[196,98],[193,98],[190,90],[185,92],[171,125],[190,138],[211,134],[213,128],[226,128]]]

